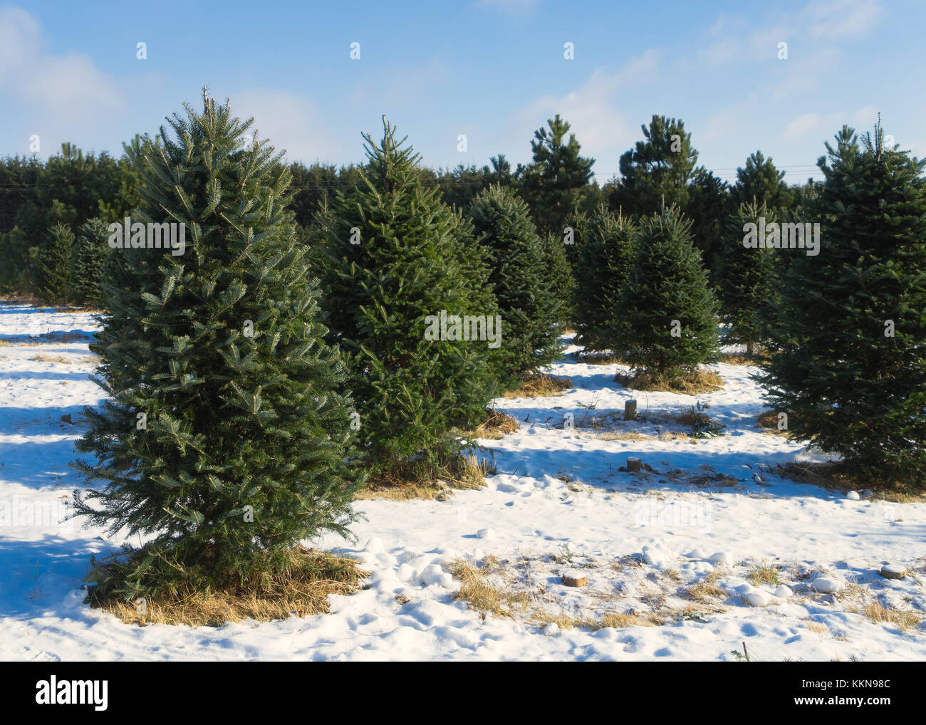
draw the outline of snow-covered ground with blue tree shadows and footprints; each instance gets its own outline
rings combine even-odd
[[[90,555],[122,541],[60,521],[80,482],[68,468],[80,428],[62,416],[79,424],[82,406],[100,401],[88,380],[94,329],[86,313],[0,304],[2,660],[732,660],[744,642],[760,660],[926,658],[922,623],[902,629],[857,612],[877,602],[926,614],[926,504],[854,500],[768,473],[807,453],[756,428],[762,405],[748,367],[716,366],[723,390],[696,398],[633,394],[614,381],[619,366],[578,363],[574,346],[551,370],[572,389],[497,401],[520,430],[481,442],[497,471],[485,488],[357,501],[366,516],[357,543],[310,543],[371,572],[364,591],[332,597],[332,614],[122,624],[83,605],[80,590]],[[621,419],[631,397],[641,422]],[[669,416],[697,401],[724,434],[679,434]],[[648,469],[619,470],[628,456]],[[461,560],[491,565],[488,580],[529,604],[508,618],[456,601],[450,569]],[[885,579],[885,564],[910,573]],[[771,570],[772,581],[750,583]],[[563,574],[588,586],[566,587]],[[699,584],[720,594],[694,596]],[[538,611],[664,623],[568,628],[536,623]]]

